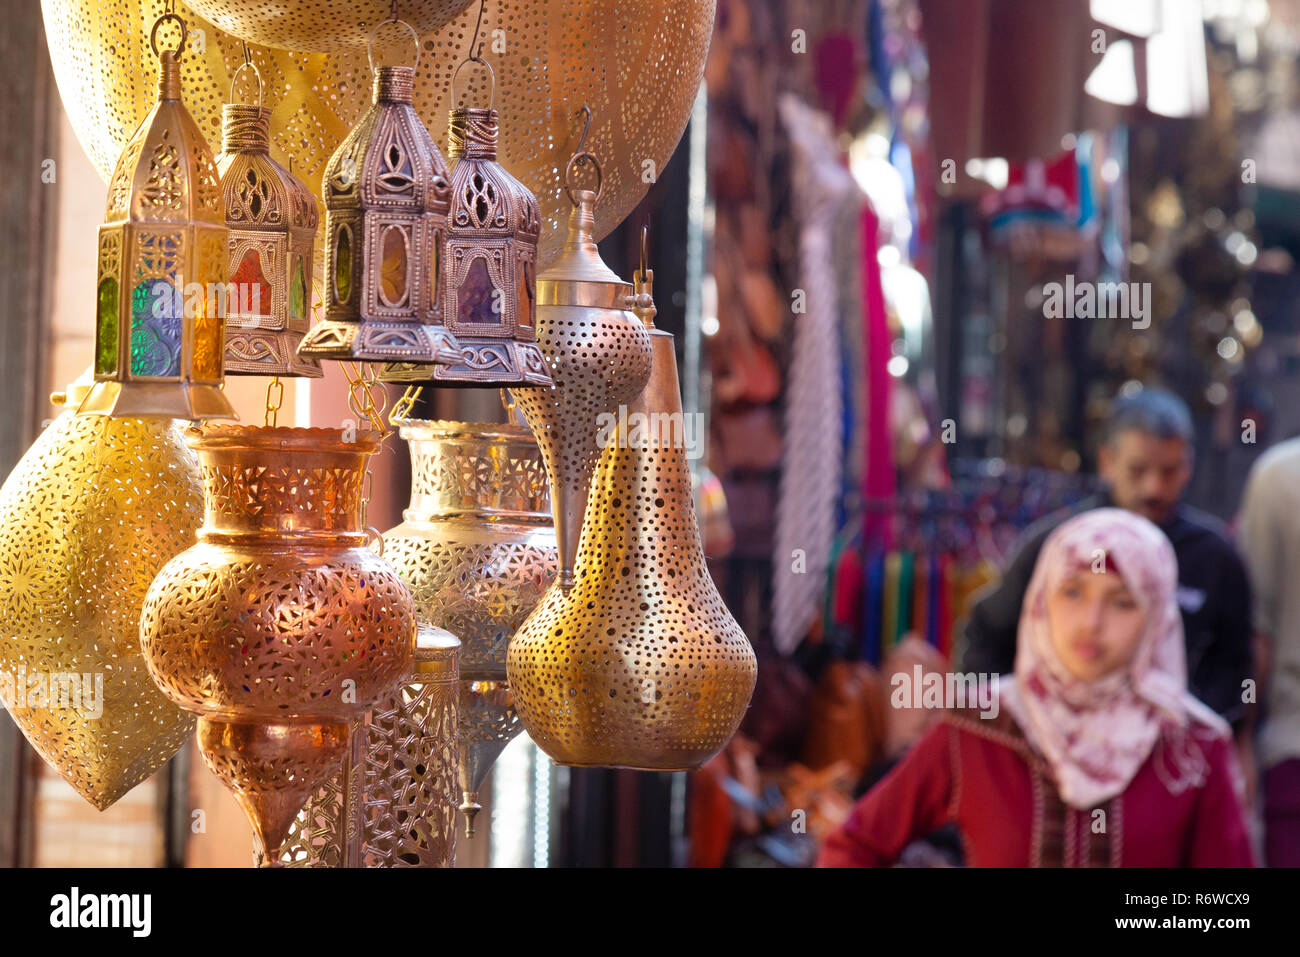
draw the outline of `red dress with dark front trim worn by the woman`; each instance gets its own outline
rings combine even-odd
[[[1050,767],[1005,711],[948,713],[822,846],[819,867],[887,867],[945,823],[962,832],[970,867],[1252,867],[1236,797],[1232,742],[1193,727],[1184,745],[1205,780],[1182,793],[1157,741],[1127,789],[1098,809],[1063,805]]]

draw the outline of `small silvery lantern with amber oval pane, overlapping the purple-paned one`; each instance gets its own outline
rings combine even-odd
[[[428,378],[429,364],[459,363],[462,352],[442,322],[447,163],[411,107],[416,68],[374,68],[373,59],[370,65],[374,103],[334,151],[321,181],[325,320],[298,355],[402,360],[416,363]]]

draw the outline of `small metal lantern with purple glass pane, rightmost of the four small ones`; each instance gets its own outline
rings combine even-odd
[[[460,64],[488,62],[477,56]],[[456,73],[460,70],[458,69]],[[462,346],[458,363],[436,367],[439,385],[547,386],[551,376],[537,347],[537,198],[497,163],[497,111],[455,107],[447,143],[452,163],[447,218],[445,319]],[[490,103],[490,100],[489,100]],[[380,378],[430,378],[430,371],[404,363],[385,367]]]

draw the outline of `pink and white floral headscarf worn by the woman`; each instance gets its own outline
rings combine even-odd
[[[1117,571],[1147,614],[1132,662],[1097,681],[1072,676],[1048,627],[1048,594],[1079,568],[1101,560]],[[1014,680],[1000,702],[1052,765],[1061,800],[1091,809],[1124,791],[1164,732],[1176,792],[1199,787],[1205,761],[1187,731],[1196,722],[1230,735],[1227,723],[1187,690],[1178,559],[1150,521],[1121,508],[1096,508],[1057,528],[1039,554],[1020,609]]]

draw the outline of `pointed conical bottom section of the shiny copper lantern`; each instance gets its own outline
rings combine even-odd
[[[235,798],[257,837],[257,856],[277,866],[280,846],[307,798],[335,771],[348,744],[347,722],[251,724],[199,718],[204,763]]]

